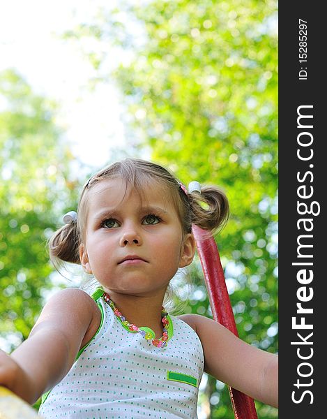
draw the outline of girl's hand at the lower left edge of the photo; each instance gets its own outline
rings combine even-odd
[[[0,349],[0,385],[8,388],[23,399],[33,392],[33,383],[20,365]]]

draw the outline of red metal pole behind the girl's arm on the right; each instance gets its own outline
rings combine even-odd
[[[217,244],[211,233],[202,230],[198,226],[192,226],[192,233],[195,237],[197,251],[204,272],[213,318],[238,336]],[[229,395],[236,419],[258,418],[254,401],[251,397],[231,387],[229,387]]]

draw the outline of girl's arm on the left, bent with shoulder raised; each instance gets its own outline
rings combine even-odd
[[[33,404],[66,376],[79,348],[100,325],[100,310],[77,288],[60,291],[45,305],[36,325],[11,355],[0,353],[0,385]]]

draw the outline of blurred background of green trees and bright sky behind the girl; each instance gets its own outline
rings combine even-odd
[[[79,272],[54,272],[47,239],[93,172],[134,156],[225,190],[216,241],[238,333],[277,353],[277,1],[13,0],[0,57],[0,348],[78,286]],[[210,317],[197,258],[190,276],[185,310]],[[206,374],[198,416],[234,418]]]

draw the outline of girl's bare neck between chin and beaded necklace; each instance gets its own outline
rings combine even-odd
[[[115,293],[106,289],[105,291],[129,323],[139,328],[151,328],[156,339],[162,337],[161,309],[165,294],[150,297]]]

